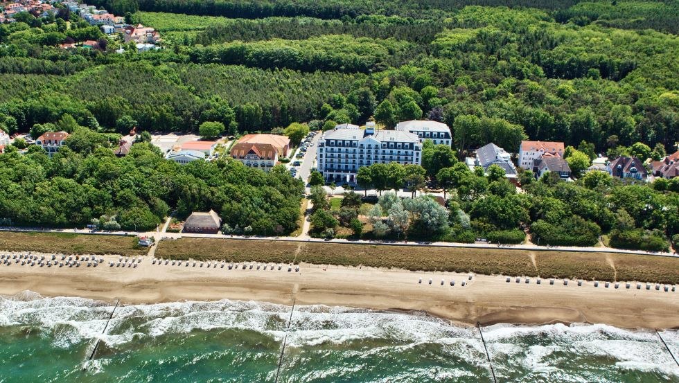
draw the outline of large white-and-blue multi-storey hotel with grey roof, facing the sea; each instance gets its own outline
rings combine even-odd
[[[337,125],[325,132],[318,144],[318,169],[328,182],[356,182],[361,166],[373,163],[422,163],[422,144],[418,136],[398,130],[376,130],[367,123],[365,130],[356,125]]]

